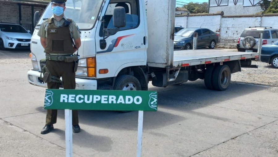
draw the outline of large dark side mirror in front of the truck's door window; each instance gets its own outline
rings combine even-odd
[[[117,6],[113,10],[113,25],[116,28],[124,27],[126,25],[125,9],[122,6]]]

